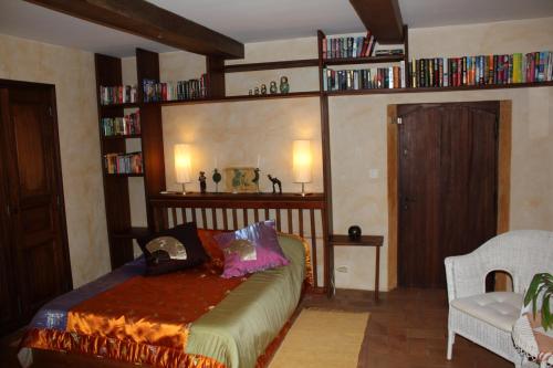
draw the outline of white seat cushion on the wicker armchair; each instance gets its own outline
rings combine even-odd
[[[510,333],[520,317],[524,296],[510,292],[493,292],[451,301],[451,306],[474,318]]]

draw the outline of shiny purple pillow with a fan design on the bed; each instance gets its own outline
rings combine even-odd
[[[225,253],[225,271],[221,275],[225,278],[290,263],[280,248],[274,221],[258,222],[234,232],[222,233],[215,240]]]

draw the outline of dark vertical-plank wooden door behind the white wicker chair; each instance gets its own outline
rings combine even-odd
[[[400,286],[445,287],[444,259],[497,233],[499,103],[398,106]]]

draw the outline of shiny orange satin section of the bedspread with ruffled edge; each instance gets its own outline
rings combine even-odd
[[[73,307],[66,332],[34,329],[25,345],[159,367],[223,367],[185,354],[190,323],[246,278],[221,278],[209,267],[136,276]]]

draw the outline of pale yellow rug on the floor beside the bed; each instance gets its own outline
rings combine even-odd
[[[303,309],[269,368],[356,368],[368,313]]]

